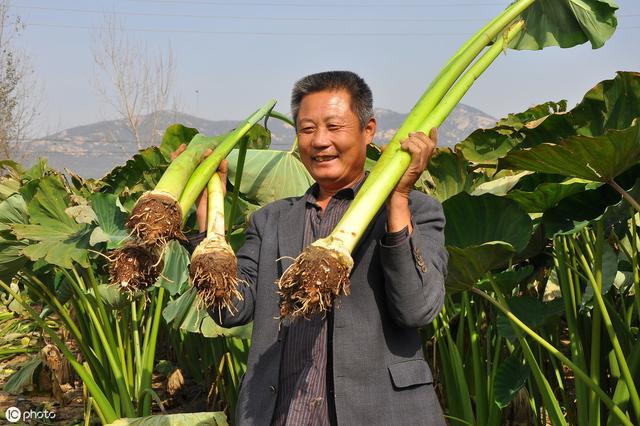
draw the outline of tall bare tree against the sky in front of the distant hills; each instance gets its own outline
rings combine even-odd
[[[166,53],[149,52],[145,44],[130,37],[115,16],[106,15],[91,50],[98,67],[96,90],[125,120],[138,149],[144,148],[149,145],[147,137],[160,134],[161,113],[172,100],[175,108],[171,48]]]

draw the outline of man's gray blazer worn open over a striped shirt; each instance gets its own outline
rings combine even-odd
[[[334,309],[333,386],[340,425],[444,425],[418,327],[438,314],[447,252],[444,214],[436,200],[410,197],[414,228],[394,247],[383,245],[380,209],[353,253],[351,294]],[[238,425],[268,425],[273,415],[286,327],[279,327],[276,280],[302,251],[305,200],[287,198],[255,212],[239,250],[244,300],[223,312],[221,325],[254,321]],[[218,321],[218,315],[212,315]]]

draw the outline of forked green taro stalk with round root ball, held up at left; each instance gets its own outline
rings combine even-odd
[[[136,203],[127,221],[127,227],[133,234],[149,246],[162,246],[171,239],[184,239],[181,228],[187,213],[220,162],[254,124],[269,114],[274,105],[275,101],[271,100],[249,116],[224,137],[202,163],[204,152],[218,140],[194,137],[185,152],[171,162],[155,189],[143,194]]]

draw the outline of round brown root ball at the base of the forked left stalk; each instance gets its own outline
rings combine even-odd
[[[180,205],[162,194],[143,195],[127,221],[127,228],[148,246],[162,246],[173,239],[186,241],[181,227]]]

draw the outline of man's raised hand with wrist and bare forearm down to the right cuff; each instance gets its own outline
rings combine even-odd
[[[422,172],[429,164],[429,159],[435,152],[438,143],[438,130],[434,127],[429,136],[423,132],[409,133],[409,136],[400,142],[403,151],[411,154],[411,163],[404,172],[395,189],[387,199],[387,231],[401,231],[405,226],[409,233],[411,227],[411,211],[409,210],[409,193],[413,185],[418,181]]]

